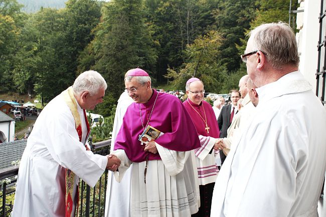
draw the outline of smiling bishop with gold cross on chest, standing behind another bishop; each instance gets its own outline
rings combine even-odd
[[[222,147],[218,142],[220,130],[215,113],[212,106],[203,100],[204,92],[204,84],[201,80],[189,79],[186,83],[188,99],[184,102],[184,106],[195,124],[201,141],[201,146],[195,149],[201,207],[193,216],[209,217],[213,189],[219,171],[215,163],[213,148]]]

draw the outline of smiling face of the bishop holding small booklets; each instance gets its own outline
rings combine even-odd
[[[150,87],[150,81],[146,81],[142,85],[135,78],[132,78],[130,81],[126,80],[124,85],[129,96],[135,103],[146,103],[151,97],[152,89]],[[132,92],[133,88],[136,90],[135,92]]]

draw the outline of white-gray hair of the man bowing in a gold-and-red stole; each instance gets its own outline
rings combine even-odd
[[[92,70],[80,74],[72,87],[74,93],[77,95],[83,91],[88,91],[90,95],[94,95],[101,88],[106,90],[107,84],[100,73]]]

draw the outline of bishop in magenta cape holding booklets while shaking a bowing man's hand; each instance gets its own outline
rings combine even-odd
[[[132,163],[131,216],[191,216],[199,206],[191,150],[200,141],[188,112],[177,97],[152,89],[141,69],[127,72],[125,88],[135,103],[115,139],[121,165],[114,175],[120,181]],[[141,144],[147,125],[164,135]]]

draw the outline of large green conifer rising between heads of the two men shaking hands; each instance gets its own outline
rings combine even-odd
[[[89,67],[103,75],[111,94],[106,94],[97,110],[110,110],[113,103],[106,103],[112,99],[115,104],[124,89],[127,70],[140,67],[152,75],[157,56],[141,0],[111,1],[103,6],[102,14],[102,22],[94,29],[95,39],[79,58],[79,70]]]

